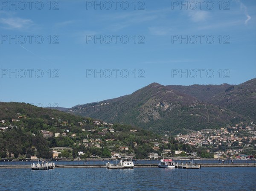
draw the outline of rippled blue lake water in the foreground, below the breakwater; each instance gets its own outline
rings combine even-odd
[[[1,168],[0,190],[255,191],[255,167],[201,169]]]

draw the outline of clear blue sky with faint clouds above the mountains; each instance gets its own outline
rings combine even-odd
[[[101,6],[102,4],[102,6]],[[0,101],[72,107],[256,77],[256,1],[1,1]]]

